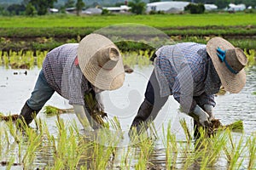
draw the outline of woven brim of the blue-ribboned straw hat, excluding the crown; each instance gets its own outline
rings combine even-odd
[[[245,86],[246,83],[246,72],[244,69],[239,71],[239,73],[232,73],[224,62],[221,62],[217,55],[217,48],[223,50],[235,48],[230,42],[226,41],[221,37],[213,37],[207,42],[207,53],[210,55],[215,70],[218,73],[218,77],[222,83],[224,89],[231,94],[237,94]]]

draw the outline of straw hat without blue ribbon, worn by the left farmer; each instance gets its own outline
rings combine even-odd
[[[90,34],[79,42],[79,66],[96,88],[114,90],[125,81],[123,60],[113,42],[100,34]]]

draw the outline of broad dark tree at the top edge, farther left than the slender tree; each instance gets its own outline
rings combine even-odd
[[[53,8],[57,0],[30,0],[30,3],[37,9],[39,15],[47,13],[48,8]]]

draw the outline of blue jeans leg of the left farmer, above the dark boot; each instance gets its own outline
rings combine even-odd
[[[39,111],[54,93],[55,90],[49,86],[49,83],[44,77],[44,72],[40,71],[35,88],[32,91],[30,99],[27,99],[26,104],[32,110]]]

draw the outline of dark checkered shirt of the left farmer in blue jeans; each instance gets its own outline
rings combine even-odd
[[[67,43],[51,50],[43,63],[44,77],[70,105],[84,105],[84,92],[89,90],[79,65],[74,64],[79,43]]]

